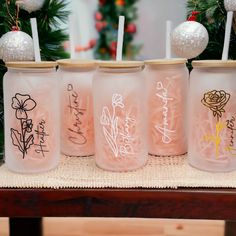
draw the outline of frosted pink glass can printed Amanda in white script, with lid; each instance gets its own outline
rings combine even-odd
[[[185,154],[189,77],[186,59],[148,60],[145,64],[148,152],[156,156]]]

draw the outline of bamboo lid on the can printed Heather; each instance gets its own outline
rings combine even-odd
[[[57,66],[54,61],[12,61],[6,62],[6,66],[9,68],[53,68]]]

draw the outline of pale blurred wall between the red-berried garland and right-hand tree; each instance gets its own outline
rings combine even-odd
[[[186,0],[140,0],[138,3],[136,43],[143,43],[140,58],[165,57],[165,26],[173,28],[186,19]]]

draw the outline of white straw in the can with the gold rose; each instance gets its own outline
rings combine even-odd
[[[222,60],[228,60],[229,58],[229,43],[230,43],[230,34],[232,28],[232,21],[233,21],[233,12],[227,12],[227,21],[225,27],[225,41],[224,41],[224,49],[222,53]]]

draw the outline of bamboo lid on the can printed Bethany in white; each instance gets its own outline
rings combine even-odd
[[[137,68],[144,66],[142,61],[98,61],[100,68]]]

